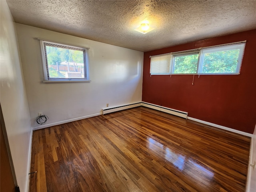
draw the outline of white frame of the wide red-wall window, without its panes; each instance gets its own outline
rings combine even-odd
[[[224,72],[224,73],[203,73],[202,72],[202,67],[203,67],[203,58],[204,58],[204,50],[217,50],[218,48],[222,48],[224,49],[226,47],[226,50],[232,50],[232,46],[238,46],[240,45],[240,52],[239,52],[239,56],[238,56],[238,62],[237,62],[237,67],[236,67],[236,72]],[[230,47],[230,49],[229,49]],[[185,50],[185,51],[179,51],[179,52],[171,52],[171,53],[167,53],[171,55],[171,62],[170,62],[170,73],[164,73],[164,74],[155,74],[155,73],[151,73],[151,67],[152,67],[152,59],[150,59],[150,76],[151,75],[194,75],[194,74],[198,74],[198,75],[238,75],[240,74],[240,69],[242,66],[242,60],[243,60],[243,56],[244,56],[244,50],[246,47],[246,40],[245,41],[241,41],[241,42],[234,42],[234,43],[228,43],[228,44],[221,44],[221,45],[216,45],[216,46],[209,46],[209,47],[204,47],[204,48],[197,48],[197,49],[193,49],[193,50]],[[214,52],[214,51],[213,51]],[[160,55],[155,55],[155,56],[150,56],[150,58],[152,57],[156,57],[156,56],[164,56],[167,54],[160,54]],[[175,57],[176,56],[186,56],[186,55],[191,55],[191,54],[198,54],[198,63],[197,63],[197,68],[196,68],[196,73],[174,73],[174,61],[175,61]]]

